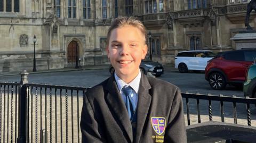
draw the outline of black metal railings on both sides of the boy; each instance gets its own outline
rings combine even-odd
[[[27,73],[21,74],[20,83],[0,82],[0,142],[81,142],[79,122],[83,95],[88,88],[27,83]],[[225,105],[233,107],[234,123],[237,124],[237,104],[246,105],[247,125],[251,124],[250,104],[254,98],[212,96],[182,93],[187,123],[190,112],[207,114],[213,121],[213,102],[219,103],[221,122],[225,122]],[[191,104],[195,100],[195,110]],[[202,103],[207,105],[202,112]],[[207,113],[206,113],[206,112]]]

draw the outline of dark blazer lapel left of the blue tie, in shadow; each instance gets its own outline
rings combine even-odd
[[[109,103],[110,108],[114,111],[115,118],[122,124],[123,128],[121,127],[121,129],[126,131],[127,136],[130,138],[130,142],[132,142],[132,124],[128,112],[126,112],[127,110],[114,80],[114,76],[109,78],[106,89],[109,91],[106,100]]]

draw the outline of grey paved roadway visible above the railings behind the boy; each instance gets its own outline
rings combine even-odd
[[[29,74],[28,81],[30,83],[92,87],[107,79],[109,75],[108,70],[40,73]],[[166,71],[159,79],[173,83],[182,92],[243,97],[242,89],[236,87],[227,86],[225,90],[212,90],[209,83],[204,79],[204,73]],[[0,81],[19,82],[20,76],[0,77]]]

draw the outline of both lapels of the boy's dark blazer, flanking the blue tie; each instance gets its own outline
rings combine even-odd
[[[146,75],[141,74],[140,87],[138,91],[137,128],[135,138],[136,142],[139,142],[140,140],[142,129],[145,125],[145,121],[148,116],[149,107],[151,104],[151,95],[149,94],[150,88],[151,86]],[[127,136],[130,138],[130,141],[132,142],[134,140],[132,134],[132,124],[129,119],[128,113],[124,112],[126,111],[126,107],[116,85],[114,74],[109,78],[106,85],[106,90],[108,90],[106,100],[108,101],[109,106],[113,109],[119,123],[122,124],[121,128],[123,128],[126,131]]]

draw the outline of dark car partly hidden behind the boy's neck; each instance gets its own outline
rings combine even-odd
[[[151,74],[155,75],[155,77],[160,77],[164,73],[164,68],[162,64],[146,60],[141,61],[140,70],[146,75],[148,72],[150,72]],[[110,65],[109,72],[113,73],[114,71],[115,69],[113,68],[113,66]]]

